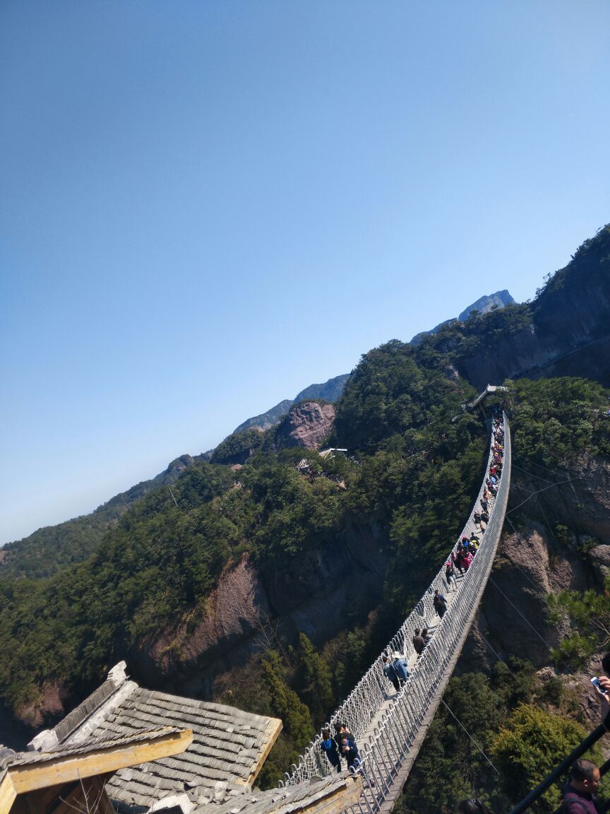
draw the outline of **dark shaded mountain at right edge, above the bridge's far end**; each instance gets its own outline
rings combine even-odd
[[[477,389],[504,379],[585,376],[610,387],[610,226],[547,274],[531,303],[442,326],[416,348],[438,355]]]

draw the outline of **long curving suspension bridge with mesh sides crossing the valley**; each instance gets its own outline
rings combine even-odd
[[[453,589],[448,590],[443,564],[386,649],[326,724],[331,732],[336,722],[346,724],[359,746],[362,762],[358,771],[364,782],[357,803],[346,809],[349,814],[391,812],[460,656],[490,575],[506,514],[511,479],[511,438],[505,414],[499,421],[492,422],[490,451],[477,501],[451,549],[455,554],[463,536],[469,537],[472,532],[480,535],[473,515],[480,509],[490,468],[498,455],[496,440],[502,435],[503,466],[498,491],[495,498],[489,498],[489,522],[468,571],[456,575]],[[447,551],[448,557],[451,552]],[[447,598],[447,611],[442,618],[434,609],[436,590]],[[429,644],[419,657],[412,644],[416,628],[428,628],[431,634]],[[383,671],[384,656],[394,653],[407,659],[409,669],[407,681],[399,690],[394,689]],[[285,773],[280,786],[294,786],[332,772],[320,750],[320,737],[318,735],[307,746],[298,765],[293,764],[292,771]]]

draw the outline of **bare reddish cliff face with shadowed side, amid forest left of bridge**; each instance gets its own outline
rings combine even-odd
[[[297,561],[257,567],[248,558],[223,575],[198,622],[163,631],[129,664],[159,689],[213,698],[215,689],[252,654],[295,641],[305,632],[321,644],[366,618],[381,600],[385,542],[375,523],[348,527],[333,549],[308,551]]]

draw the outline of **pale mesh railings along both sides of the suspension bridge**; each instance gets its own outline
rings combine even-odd
[[[359,744],[362,772],[365,777],[368,777],[369,784],[359,803],[354,807],[355,811],[374,814],[378,805],[383,799],[386,799],[390,784],[399,772],[409,747],[412,746],[430,701],[434,698],[440,682],[445,678],[447,664],[454,654],[455,647],[460,643],[460,639],[464,638],[464,630],[469,628],[485,588],[502,532],[510,485],[511,446],[508,421],[505,415],[500,426],[504,429],[503,470],[495,501],[493,498],[491,499],[493,505],[490,505],[490,520],[486,532],[482,536],[481,545],[467,574],[458,584],[451,604],[436,625],[434,637],[417,659],[406,684],[399,690],[392,706],[377,722],[373,730],[373,737],[369,737],[366,744]],[[492,431],[490,453],[481,489],[468,522],[451,549],[454,552],[461,537],[472,527],[474,510],[480,505],[490,466],[494,460],[494,440],[495,431]],[[346,701],[334,712],[329,724],[326,724],[329,729],[333,727],[335,721],[339,721],[346,724],[354,734],[356,741],[363,736],[381,705],[386,701],[390,690],[390,682],[383,673],[383,656],[388,651],[395,650],[401,654],[412,651],[412,637],[415,628],[428,626],[436,617],[433,604],[436,589],[441,593],[447,590],[444,563],[420,602],[405,619],[386,649],[368,668]],[[305,754],[299,756],[298,765],[293,764],[292,772],[285,773],[285,781],[281,783],[281,786],[300,783],[312,777],[319,777],[320,774],[328,774],[330,771],[330,764],[320,751],[320,735],[318,735],[309,744]]]

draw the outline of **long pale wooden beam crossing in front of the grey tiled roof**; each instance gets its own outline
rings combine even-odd
[[[192,730],[185,729],[159,737],[151,734],[146,741],[92,750],[85,755],[59,756],[40,763],[16,764],[7,768],[16,793],[24,794],[46,786],[58,786],[59,783],[80,780],[82,777],[118,772],[120,768],[180,755],[192,742]],[[0,814],[3,812],[0,811]]]

